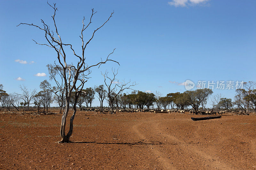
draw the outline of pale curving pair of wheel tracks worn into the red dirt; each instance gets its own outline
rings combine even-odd
[[[150,135],[150,137],[153,137],[153,140],[159,141],[159,140],[166,139],[167,140],[167,141],[165,140],[166,144],[170,144],[171,146],[175,144],[178,147],[178,149],[175,150],[175,147],[169,147],[168,145],[165,145],[164,149],[167,149],[167,152],[165,153],[164,151],[160,151],[159,150],[160,148],[158,146],[152,146],[153,149],[151,149],[151,152],[153,152],[156,155],[156,157],[159,158],[158,159],[159,162],[166,169],[180,169],[180,168],[183,169],[186,167],[187,168],[189,167],[192,169],[198,168],[194,166],[195,163],[199,165],[200,169],[214,169],[214,168],[225,169],[225,170],[232,169],[229,165],[227,165],[223,161],[217,160],[217,158],[211,156],[209,153],[202,151],[202,148],[195,146],[193,144],[186,144],[184,140],[178,139],[177,137],[174,137],[169,134],[165,134],[164,130],[159,128],[159,122],[156,122],[153,120],[143,122],[143,125],[148,125],[148,127],[150,127],[149,133],[140,132],[139,129],[143,129],[143,128],[139,127],[139,125],[140,124],[134,125],[132,129],[140,138],[145,139],[149,137],[147,135]],[[143,127],[146,127],[146,126],[143,126]],[[186,157],[184,157],[180,153],[179,149],[182,149],[182,152],[183,152],[182,154],[186,155]],[[172,154],[171,159],[168,153]],[[193,162],[195,161],[193,159],[196,159],[196,162]]]

